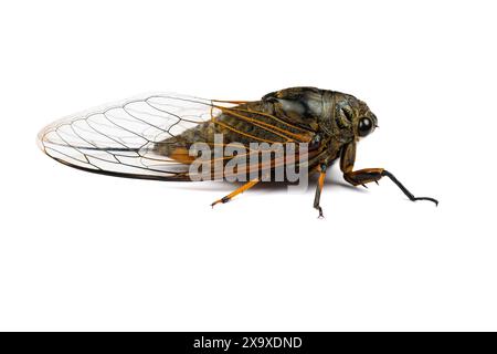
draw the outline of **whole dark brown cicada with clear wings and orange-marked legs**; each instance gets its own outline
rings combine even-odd
[[[39,145],[60,163],[103,175],[199,180],[207,170],[209,178],[204,179],[245,178],[243,186],[212,206],[228,202],[267,180],[264,177],[274,175],[278,168],[293,166],[319,174],[314,207],[322,217],[319,200],[326,170],[336,160],[340,162],[345,180],[353,186],[366,187],[388,177],[410,200],[437,205],[434,198],[414,197],[383,168],[353,170],[358,142],[377,127],[377,116],[364,102],[315,87],[285,88],[258,101],[151,94],[54,122],[40,132]],[[222,140],[216,136],[222,136]],[[260,149],[252,147],[255,143],[281,147],[298,144],[298,148],[294,148],[294,158],[274,154],[265,162],[226,169],[234,156],[260,154]],[[198,150],[192,148],[198,144],[212,149],[203,156],[202,162],[210,164],[202,171],[192,169],[198,163]],[[228,147],[235,147],[237,154],[215,154],[216,149]],[[221,173],[213,166],[221,167]]]

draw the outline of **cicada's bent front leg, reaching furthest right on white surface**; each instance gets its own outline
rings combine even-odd
[[[383,168],[364,168],[359,170],[352,170],[353,164],[356,162],[356,143],[350,143],[343,147],[340,156],[340,169],[343,173],[343,178],[349,184],[353,186],[369,184],[371,181],[378,183],[382,177],[389,177],[403,192],[408,198],[412,201],[416,200],[430,200],[435,205],[438,205],[438,201],[434,198],[430,197],[414,197],[412,192],[408,190],[408,188],[402,185],[399,179],[395,178],[391,173]]]

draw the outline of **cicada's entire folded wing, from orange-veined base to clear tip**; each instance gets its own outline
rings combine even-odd
[[[251,154],[251,142],[309,142],[313,133],[266,112],[261,101],[219,101],[178,94],[151,94],[108,104],[54,122],[39,134],[39,145],[50,157],[87,171],[119,177],[198,180],[192,176],[190,147],[213,147],[214,133],[239,143]],[[271,147],[267,147],[271,149]],[[213,152],[214,149],[212,149]],[[215,162],[229,157],[209,155]],[[313,152],[318,154],[319,152]],[[287,164],[272,160],[260,169]],[[243,168],[237,174],[246,175]]]

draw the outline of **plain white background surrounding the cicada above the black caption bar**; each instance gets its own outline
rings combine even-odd
[[[0,6],[0,330],[497,330],[491,1]],[[45,124],[142,92],[355,94],[380,128],[321,199],[86,174]]]

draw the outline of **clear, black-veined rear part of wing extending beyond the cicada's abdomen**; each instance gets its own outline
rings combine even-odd
[[[158,146],[173,145],[176,136],[219,114],[219,103],[210,100],[151,94],[54,122],[40,132],[39,145],[57,162],[88,171],[188,180],[189,164],[159,154]]]

